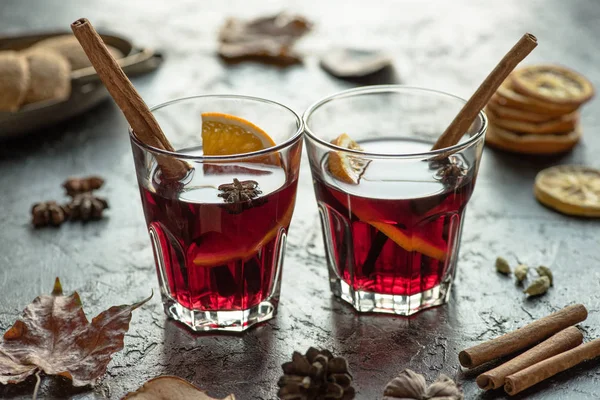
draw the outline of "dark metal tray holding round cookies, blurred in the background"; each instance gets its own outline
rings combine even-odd
[[[46,32],[24,36],[0,37],[0,51],[23,50],[34,43],[70,32]],[[104,42],[124,54],[119,64],[132,77],[154,71],[162,63],[160,53],[134,46],[129,40],[101,33]],[[27,104],[17,112],[0,112],[0,139],[25,135],[79,115],[109,97],[92,67],[71,72],[71,96],[64,101],[43,101]]]

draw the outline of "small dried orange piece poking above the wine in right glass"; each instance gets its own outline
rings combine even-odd
[[[363,148],[345,133],[333,139],[331,144],[344,149],[363,151]],[[342,182],[354,185],[358,184],[368,164],[369,161],[363,158],[351,156],[341,151],[330,151],[327,160],[327,168],[331,175]]]

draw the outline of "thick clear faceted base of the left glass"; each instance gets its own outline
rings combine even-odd
[[[247,310],[198,311],[182,306],[169,296],[163,295],[165,313],[196,332],[243,332],[277,314],[277,304],[263,301]]]

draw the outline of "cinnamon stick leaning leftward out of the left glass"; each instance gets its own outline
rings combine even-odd
[[[86,18],[81,18],[71,24],[71,30],[137,138],[148,146],[174,151],[154,115],[92,24]],[[157,156],[157,161],[166,179],[181,179],[189,170],[186,163],[174,157]]]

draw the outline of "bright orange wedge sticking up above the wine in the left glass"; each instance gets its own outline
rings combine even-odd
[[[204,155],[245,154],[273,146],[275,146],[273,139],[252,122],[230,114],[202,113]],[[256,157],[249,161],[279,164],[277,156]]]

